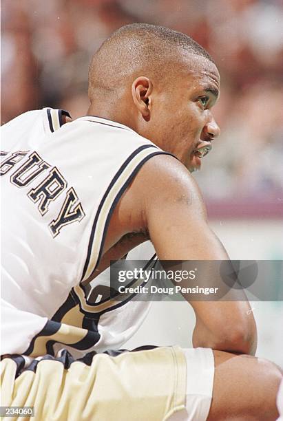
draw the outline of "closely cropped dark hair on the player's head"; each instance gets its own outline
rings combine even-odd
[[[147,23],[125,25],[104,41],[92,58],[90,100],[122,89],[129,78],[143,75],[164,81],[188,53],[213,62],[204,48],[181,32]]]

